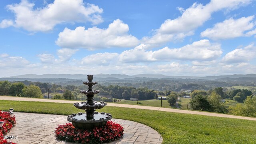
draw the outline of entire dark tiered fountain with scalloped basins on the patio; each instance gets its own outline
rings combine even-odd
[[[79,112],[78,114],[71,114],[68,116],[68,121],[72,122],[75,128],[89,130],[95,126],[106,126],[108,120],[112,119],[112,115],[109,113],[101,112],[98,113],[95,110],[103,108],[107,105],[106,102],[96,102],[93,97],[94,94],[100,93],[99,90],[92,90],[92,86],[98,82],[92,82],[93,75],[87,75],[88,82],[83,82],[89,88],[88,90],[81,90],[80,93],[87,96],[86,102],[76,102],[74,106],[76,108],[85,110],[86,113]]]

